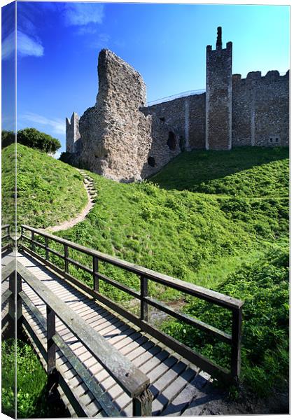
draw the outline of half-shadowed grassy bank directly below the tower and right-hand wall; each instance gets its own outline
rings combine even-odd
[[[287,197],[288,156],[288,148],[185,152],[151,181],[167,190],[238,197]]]

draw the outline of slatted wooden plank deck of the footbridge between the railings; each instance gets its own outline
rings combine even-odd
[[[2,258],[2,266],[10,262],[11,254]],[[195,415],[199,413],[204,402],[217,398],[211,391],[209,375],[201,372],[199,368],[192,365],[188,360],[182,358],[172,350],[165,347],[165,344],[158,342],[153,337],[139,330],[130,321],[125,320],[111,309],[100,302],[95,301],[85,292],[78,290],[62,276],[45,267],[43,263],[31,258],[25,253],[17,253],[17,258],[22,265],[27,267],[45,286],[52,290],[58,299],[62,300],[81,316],[88,325],[99,332],[109,343],[116,347],[123,355],[127,356],[132,363],[147,374],[151,380],[150,391],[153,393],[153,415],[179,416]],[[8,282],[2,284],[7,288]],[[45,304],[27,285],[22,283],[22,290],[25,291],[31,302],[46,317]],[[6,308],[2,308],[2,318]],[[39,337],[43,346],[46,345],[45,330],[38,323],[34,314],[31,313],[26,304],[23,304],[23,315]],[[132,416],[132,400],[116,384],[116,381],[90,354],[85,346],[66,328],[57,318],[56,330],[68,344],[76,357],[87,367],[92,377],[99,383],[123,416]],[[38,356],[45,367],[46,363],[41,352],[36,348]],[[82,379],[62,355],[57,351],[57,365],[62,372],[66,384],[71,388],[73,395],[79,399],[83,409],[88,416],[105,416],[97,400],[87,389]],[[71,403],[59,388],[71,416],[75,416]],[[188,414],[189,413],[189,414]]]

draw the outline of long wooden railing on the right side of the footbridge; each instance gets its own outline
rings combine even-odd
[[[139,328],[152,335],[160,342],[165,343],[165,345],[169,346],[170,349],[173,349],[181,356],[190,360],[191,363],[201,367],[204,371],[208,372],[212,376],[222,377],[223,379],[229,381],[239,378],[241,368],[241,314],[244,302],[234,299],[228,295],[223,295],[213,290],[196,286],[193,283],[181,281],[179,279],[175,279],[174,277],[160,274],[151,269],[132,264],[131,262],[120,260],[119,258],[113,257],[111,255],[107,255],[99,251],[94,251],[90,248],[86,248],[85,246],[81,246],[68,241],[67,239],[51,235],[43,230],[31,228],[27,225],[22,225],[21,229],[22,232],[20,239],[24,251],[38,258],[38,260],[45,262],[48,267],[55,269],[55,271],[57,271],[59,274],[62,274],[65,279],[76,284],[79,288],[85,290],[97,300],[106,304],[118,314],[127,318],[127,320],[131,321],[135,325],[138,325]],[[30,236],[25,235],[27,232],[29,232]],[[43,237],[43,244],[36,240],[38,237]],[[54,242],[55,244],[62,246],[63,253],[57,252],[56,250],[50,248],[49,241],[50,243]],[[27,242],[29,246],[25,245]],[[45,251],[45,258],[36,252],[36,247]],[[69,258],[69,249],[90,256],[92,259],[92,267],[87,267],[82,265],[80,262],[73,260],[73,258]],[[64,262],[64,266],[62,268],[57,267],[57,265],[50,262],[50,254],[57,255],[57,257],[61,258],[61,260]],[[116,280],[110,279],[105,274],[102,274],[102,272],[99,272],[99,262],[107,262],[113,266],[125,269],[127,272],[137,274],[140,281],[140,291],[125,286]],[[91,274],[92,288],[83,283],[83,281],[80,281],[69,274],[69,265],[73,265],[78,269],[81,269],[83,272]],[[140,302],[140,315],[134,315],[131,311],[128,311],[117,302],[114,302],[109,297],[102,295],[99,287],[100,280],[118,288],[119,290],[122,290],[132,297],[137,298]],[[162,286],[167,286],[182,293],[186,293],[190,296],[198,297],[201,300],[210,302],[211,304],[216,304],[220,307],[228,309],[228,311],[231,312],[232,317],[231,333],[228,334],[223,332],[222,330],[214,328],[213,326],[197,320],[192,316],[188,316],[187,314],[183,314],[180,311],[176,311],[163,302],[159,302],[158,300],[153,299],[153,297],[151,297],[148,293],[149,281],[154,281],[155,283],[158,283]],[[230,370],[214,363],[213,360],[209,360],[208,358],[202,356],[200,353],[193,351],[188,346],[174,339],[174,337],[171,337],[158,328],[155,328],[155,326],[150,325],[150,323],[148,323],[148,305],[151,305],[156,309],[160,309],[160,311],[163,311],[165,314],[173,316],[180,321],[188,323],[189,325],[193,325],[197,329],[207,332],[209,336],[214,337],[215,339],[228,343],[231,349]]]

